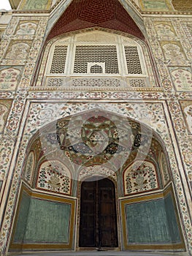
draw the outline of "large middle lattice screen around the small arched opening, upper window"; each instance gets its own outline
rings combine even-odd
[[[88,73],[88,62],[102,62],[105,73],[118,74],[118,55],[115,45],[77,45],[74,73]],[[101,70],[97,68],[100,73]],[[96,72],[96,67],[93,71]]]

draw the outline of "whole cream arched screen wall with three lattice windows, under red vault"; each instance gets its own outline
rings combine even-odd
[[[38,86],[40,83],[78,89],[157,86],[147,48],[134,38],[88,31],[54,39],[46,49],[42,61],[46,63],[46,79],[39,79]]]

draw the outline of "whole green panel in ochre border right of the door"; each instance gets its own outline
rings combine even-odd
[[[167,209],[166,209],[167,208]],[[180,242],[172,197],[126,205],[127,238],[130,243]]]

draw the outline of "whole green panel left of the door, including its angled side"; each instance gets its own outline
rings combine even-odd
[[[69,243],[71,205],[37,199],[24,192],[13,242]]]

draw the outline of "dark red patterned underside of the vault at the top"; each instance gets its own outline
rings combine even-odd
[[[66,32],[94,26],[123,31],[145,39],[118,0],[74,0],[55,23],[47,40]]]

